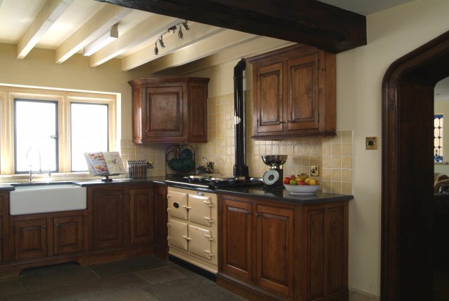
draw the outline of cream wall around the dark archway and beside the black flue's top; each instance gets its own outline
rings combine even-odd
[[[349,286],[380,295],[381,87],[399,57],[449,30],[449,1],[418,0],[367,17],[368,45],[340,53],[337,64],[337,130],[354,132],[353,194],[350,202]],[[237,61],[193,73],[211,77],[211,97],[229,94]],[[245,90],[250,90],[250,66]],[[430,134],[430,133],[429,133]],[[378,149],[365,150],[365,137]]]

